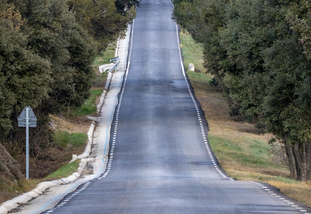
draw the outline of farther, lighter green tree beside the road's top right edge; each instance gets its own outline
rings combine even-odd
[[[189,32],[195,42],[204,47],[204,67],[222,80],[219,61],[226,58],[220,47],[219,29],[225,24],[225,5],[228,0],[175,0],[172,18]]]

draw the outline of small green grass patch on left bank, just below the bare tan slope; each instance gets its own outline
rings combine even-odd
[[[68,131],[55,130],[53,133],[54,143],[57,145],[67,147],[83,146],[87,140],[87,134],[84,133],[69,133]]]

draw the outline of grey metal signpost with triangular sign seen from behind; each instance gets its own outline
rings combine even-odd
[[[29,127],[37,127],[37,117],[31,107],[25,107],[19,114],[18,127],[26,127],[26,179],[29,179]]]

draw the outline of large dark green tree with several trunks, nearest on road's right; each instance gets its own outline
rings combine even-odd
[[[224,70],[223,81],[230,98],[240,105],[239,113],[261,119],[284,142],[289,161],[294,156],[297,180],[306,181],[310,179],[311,94],[305,89],[310,89],[311,62],[286,19],[297,6],[293,1],[229,3],[220,43],[226,61],[235,68]]]

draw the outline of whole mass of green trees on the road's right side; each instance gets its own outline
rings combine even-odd
[[[310,179],[310,1],[178,0],[173,18],[203,44],[231,115],[264,123],[286,146],[292,178]]]

